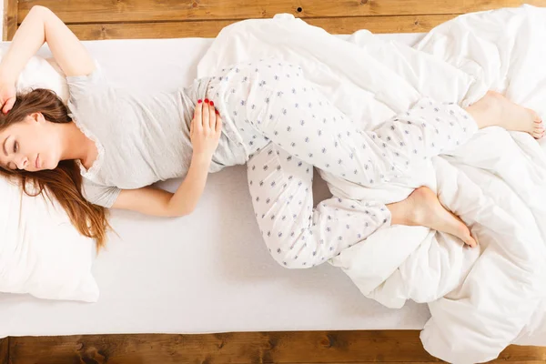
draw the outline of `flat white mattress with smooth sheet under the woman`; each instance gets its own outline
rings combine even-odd
[[[341,36],[341,35],[340,35]],[[381,35],[413,44],[421,35]],[[86,42],[108,76],[173,88],[197,75],[211,39]],[[42,51],[46,55],[46,51]],[[210,175],[197,210],[162,219],[116,211],[94,267],[96,304],[0,295],[0,337],[261,330],[422,329],[426,305],[393,310],[364,298],[338,268],[281,268],[254,219],[246,168]],[[315,174],[316,202],[329,197]],[[170,190],[179,181],[165,184]]]

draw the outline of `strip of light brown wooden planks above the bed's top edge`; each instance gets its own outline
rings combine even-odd
[[[545,0],[4,0],[4,39],[33,5],[51,8],[80,39],[214,37],[247,18],[290,13],[332,34],[427,32],[474,11]]]

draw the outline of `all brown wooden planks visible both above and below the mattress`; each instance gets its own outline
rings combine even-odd
[[[332,34],[426,32],[473,11],[546,0],[4,0],[3,39],[33,5],[51,8],[83,40],[214,37],[246,18],[290,13]],[[1,325],[1,323],[0,323]],[[0,339],[0,364],[438,362],[418,331],[298,331],[211,335],[87,335]],[[544,363],[546,348],[512,346],[497,362]]]

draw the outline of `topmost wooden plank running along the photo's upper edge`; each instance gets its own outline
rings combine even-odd
[[[19,19],[33,5],[65,23],[247,19],[290,13],[300,17],[461,14],[546,0],[20,0]],[[299,10],[299,11],[298,11]]]

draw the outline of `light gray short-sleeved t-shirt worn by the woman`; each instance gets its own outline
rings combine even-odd
[[[186,177],[193,153],[189,126],[197,99],[205,99],[208,78],[153,94],[113,85],[100,66],[89,76],[66,80],[71,116],[98,149],[89,170],[80,164],[88,201],[112,207],[121,189]],[[227,136],[234,135],[232,129],[224,123],[209,172],[246,163],[244,148]]]

